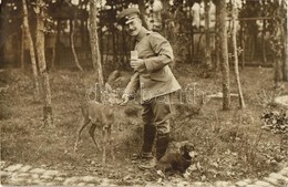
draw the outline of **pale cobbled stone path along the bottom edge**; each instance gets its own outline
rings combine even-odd
[[[69,176],[59,170],[45,168],[34,168],[30,165],[13,164],[1,160],[1,185],[9,186],[117,186],[109,178],[97,176]],[[287,187],[288,185],[288,165],[278,173],[272,173],[261,180],[243,179],[239,181],[186,181],[183,178],[174,178],[169,181],[146,183],[138,186],[195,186],[195,187]],[[135,185],[133,185],[135,186]]]

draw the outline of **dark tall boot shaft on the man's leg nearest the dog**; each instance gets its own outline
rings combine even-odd
[[[166,153],[169,143],[169,134],[157,134],[156,159],[160,160]]]

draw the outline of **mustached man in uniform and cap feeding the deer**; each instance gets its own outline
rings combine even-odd
[[[156,159],[166,152],[169,142],[171,93],[181,90],[168,64],[174,61],[169,42],[156,32],[146,30],[140,19],[137,8],[127,8],[117,15],[117,22],[127,34],[136,40],[136,59],[131,59],[134,74],[124,90],[124,104],[140,90],[143,107],[144,139],[141,154],[142,159],[154,166],[152,148],[156,141]]]

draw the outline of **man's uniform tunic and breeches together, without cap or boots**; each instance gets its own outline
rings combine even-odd
[[[171,116],[169,93],[181,90],[168,64],[173,62],[173,50],[168,41],[156,32],[147,32],[136,41],[138,59],[145,67],[135,71],[124,94],[134,95],[141,91],[144,125],[156,127],[157,134],[169,133]]]

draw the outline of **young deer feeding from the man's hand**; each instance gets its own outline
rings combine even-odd
[[[74,152],[78,150],[78,144],[80,142],[82,131],[89,126],[89,134],[92,137],[94,145],[99,152],[102,152],[102,164],[106,162],[106,147],[110,145],[112,159],[115,159],[113,145],[112,145],[112,126],[119,122],[125,115],[135,115],[133,108],[125,107],[126,104],[122,104],[122,100],[117,97],[117,94],[113,92],[109,84],[105,84],[104,91],[101,93],[102,102],[89,101],[81,106],[81,126],[78,131],[76,141],[74,143]],[[102,145],[94,137],[96,129],[102,131]]]

